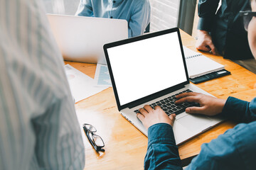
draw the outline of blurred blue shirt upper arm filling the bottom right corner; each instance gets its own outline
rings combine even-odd
[[[239,124],[210,143],[186,168],[190,169],[255,169],[256,122]]]

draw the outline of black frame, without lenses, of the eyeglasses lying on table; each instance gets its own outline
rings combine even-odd
[[[89,140],[90,144],[92,145],[92,147],[94,147],[96,152],[105,152],[105,149],[102,149],[102,147],[105,147],[104,141],[102,140],[102,138],[99,135],[95,135],[95,132],[97,132],[96,128],[93,125],[90,125],[90,126],[92,126],[92,128],[95,128],[95,131],[92,132],[92,131],[90,131],[86,128],[86,125],[90,125],[90,124],[85,123],[85,124],[82,125],[82,128],[85,132],[85,135],[86,135],[87,139]],[[92,135],[92,138],[90,137],[90,134]],[[102,140],[103,145],[102,146],[97,146],[96,142],[93,140],[93,136],[100,137],[100,140]]]

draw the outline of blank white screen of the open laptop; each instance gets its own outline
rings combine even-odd
[[[186,81],[178,33],[107,49],[120,105]]]

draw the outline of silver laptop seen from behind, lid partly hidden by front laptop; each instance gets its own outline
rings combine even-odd
[[[128,38],[126,20],[47,14],[64,60],[106,64],[103,45]]]

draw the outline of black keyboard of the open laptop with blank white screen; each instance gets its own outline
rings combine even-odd
[[[188,93],[188,92],[193,92],[189,89],[186,91],[182,91],[178,94],[183,94],[183,93]],[[175,101],[177,101],[177,96],[178,94],[174,94],[172,96],[169,96],[167,98],[162,99],[161,101],[156,101],[155,103],[149,104],[151,108],[154,108],[155,106],[160,106],[167,115],[171,115],[172,113],[175,113],[176,115],[183,113],[186,108],[190,106],[198,106],[198,103],[181,103],[181,104],[176,104]],[[135,113],[139,113],[139,110],[135,110]]]

